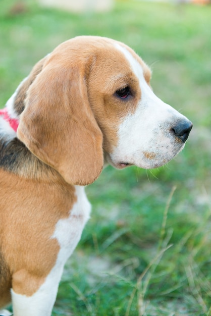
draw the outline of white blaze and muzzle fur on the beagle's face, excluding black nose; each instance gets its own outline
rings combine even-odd
[[[116,47],[123,52],[139,79],[141,99],[135,113],[125,117],[120,124],[118,145],[108,160],[117,168],[120,163],[145,169],[159,167],[184,147],[170,130],[186,118],[153,93],[144,79],[141,65],[130,52],[119,44]]]

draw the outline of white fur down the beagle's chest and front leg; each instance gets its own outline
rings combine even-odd
[[[11,290],[14,316],[51,315],[65,262],[79,242],[91,210],[84,187],[75,186],[75,188],[77,202],[70,210],[70,216],[67,219],[59,220],[51,237],[56,238],[61,247],[56,265],[32,296],[20,295]]]

